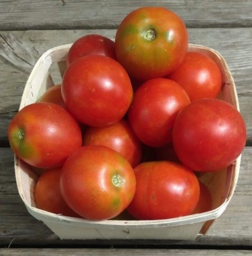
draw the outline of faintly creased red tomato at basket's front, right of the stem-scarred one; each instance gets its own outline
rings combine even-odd
[[[134,168],[136,193],[127,211],[138,220],[161,220],[192,213],[199,200],[193,171],[169,161],[144,162]]]

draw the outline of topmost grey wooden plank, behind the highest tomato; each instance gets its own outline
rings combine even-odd
[[[0,30],[117,28],[141,6],[162,6],[178,13],[188,28],[251,26],[252,2],[238,0],[1,1]]]

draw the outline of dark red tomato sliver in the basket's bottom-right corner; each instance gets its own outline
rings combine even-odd
[[[203,213],[212,210],[212,196],[205,184],[199,181],[199,202],[192,214]]]

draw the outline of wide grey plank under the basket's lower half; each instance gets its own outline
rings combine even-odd
[[[241,159],[240,177],[226,211],[194,241],[60,240],[26,211],[15,182],[13,154],[0,148],[0,246],[252,246],[252,147]]]

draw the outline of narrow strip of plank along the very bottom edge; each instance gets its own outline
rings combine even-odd
[[[135,255],[202,255],[202,256],[209,256],[209,255],[222,255],[222,256],[243,256],[243,255],[250,255],[251,251],[249,250],[189,250],[189,249],[119,249],[119,248],[111,248],[111,249],[66,249],[66,248],[40,248],[40,249],[33,249],[33,248],[18,248],[18,249],[0,249],[0,255],[4,256],[15,256],[15,255],[26,255],[26,256],[34,256],[34,255],[47,255],[47,256],[64,256],[64,255],[73,255],[73,256],[100,256],[100,255],[110,255],[110,256],[117,256],[117,255],[124,255],[124,256],[135,256]]]

